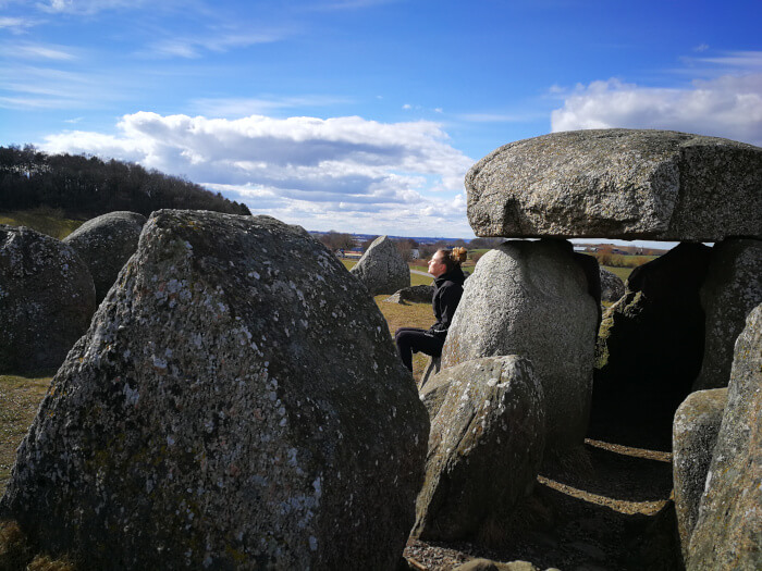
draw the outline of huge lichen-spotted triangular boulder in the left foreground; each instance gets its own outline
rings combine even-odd
[[[428,415],[306,233],[155,212],[51,383],[0,517],[81,569],[392,569]]]

